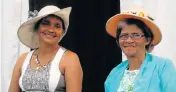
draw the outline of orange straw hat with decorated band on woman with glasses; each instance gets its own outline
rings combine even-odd
[[[147,25],[150,28],[154,36],[151,42],[152,45],[155,46],[161,41],[162,34],[160,32],[159,27],[154,23],[154,19],[150,15],[148,15],[143,8],[135,5],[131,6],[128,10],[123,11],[120,14],[112,16],[106,22],[106,32],[110,36],[116,38],[117,27],[119,23],[128,18],[141,20],[145,23],[145,25]]]

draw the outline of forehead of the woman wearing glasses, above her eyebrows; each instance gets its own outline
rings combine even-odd
[[[135,24],[125,24],[122,27],[121,33],[142,33],[142,30]]]

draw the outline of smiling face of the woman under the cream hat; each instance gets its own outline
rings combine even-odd
[[[40,41],[47,44],[58,44],[63,34],[62,21],[57,17],[48,16],[41,21],[37,32]]]

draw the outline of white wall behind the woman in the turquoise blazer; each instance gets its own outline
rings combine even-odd
[[[132,4],[140,5],[148,11],[161,29],[162,41],[152,53],[171,59],[176,66],[176,0],[121,0],[121,9]],[[125,59],[123,54],[123,60]]]

